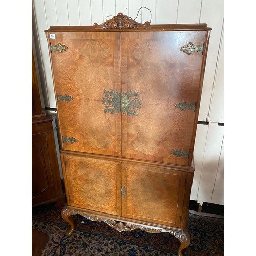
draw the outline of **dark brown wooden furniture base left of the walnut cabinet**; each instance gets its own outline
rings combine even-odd
[[[32,119],[32,206],[64,198],[52,121]]]

